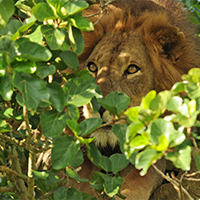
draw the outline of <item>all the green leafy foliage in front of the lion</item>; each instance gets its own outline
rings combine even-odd
[[[120,92],[103,98],[89,73],[78,71],[77,55],[84,48],[81,31],[94,29],[82,16],[88,6],[85,1],[68,0],[0,1],[3,199],[95,199],[69,188],[71,179],[90,183],[97,192],[110,197],[120,195],[124,181],[120,170],[130,162],[144,175],[162,156],[177,168],[190,169],[191,155],[196,152],[191,140],[198,138],[191,127],[199,126],[200,70],[192,69],[170,91],[149,92],[138,107],[127,109],[130,100]],[[68,69],[72,73],[67,73]],[[186,96],[182,98],[180,93]],[[95,110],[99,105],[105,107],[114,119],[126,115],[127,125],[112,127],[122,154],[103,156],[91,143],[93,138],[85,138],[102,124],[99,118],[79,123],[79,107],[87,103]],[[66,127],[73,135],[66,134]],[[93,172],[91,180],[76,173],[75,168],[83,162],[83,147],[88,158],[106,173]],[[49,150],[52,170],[45,169],[41,162]],[[194,157],[199,160],[198,154]],[[59,179],[63,169],[65,177]]]

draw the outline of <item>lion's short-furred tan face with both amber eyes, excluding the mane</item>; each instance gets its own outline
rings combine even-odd
[[[154,89],[155,70],[137,33],[121,34],[116,31],[107,34],[94,48],[85,65],[104,97],[110,92],[120,91],[130,97],[131,106],[136,106]]]

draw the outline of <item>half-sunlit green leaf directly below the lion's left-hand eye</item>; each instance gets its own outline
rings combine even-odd
[[[80,107],[88,104],[97,94],[95,92],[97,87],[92,77],[88,80],[77,77],[68,80],[63,89],[67,103]]]

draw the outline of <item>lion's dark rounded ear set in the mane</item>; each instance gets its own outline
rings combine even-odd
[[[160,54],[176,62],[185,51],[186,39],[183,32],[174,26],[159,27],[152,32],[152,39]]]

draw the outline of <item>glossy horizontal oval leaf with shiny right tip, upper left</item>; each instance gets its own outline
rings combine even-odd
[[[31,42],[28,39],[19,39],[17,43],[19,44],[19,58],[33,61],[48,61],[52,56],[46,47]]]

